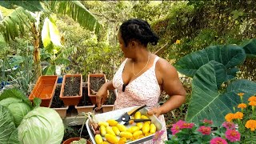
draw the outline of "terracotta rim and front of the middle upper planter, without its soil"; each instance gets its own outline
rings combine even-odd
[[[79,87],[79,94],[73,96],[66,96],[64,95],[64,87],[66,85],[66,78],[70,77],[78,77],[80,79],[80,87]],[[63,82],[62,82],[62,89],[59,98],[62,99],[65,106],[76,106],[78,102],[82,98],[82,74],[66,74],[64,75]]]

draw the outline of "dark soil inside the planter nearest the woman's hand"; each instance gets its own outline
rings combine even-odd
[[[104,83],[104,77],[90,77],[90,94],[95,95]]]

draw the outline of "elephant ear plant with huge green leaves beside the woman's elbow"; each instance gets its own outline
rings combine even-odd
[[[198,123],[206,118],[219,126],[224,116],[238,105],[239,98],[235,97],[238,91],[248,94],[246,98],[256,92],[256,82],[234,80],[237,66],[245,58],[241,46],[210,46],[186,55],[175,64],[179,72],[193,77],[186,121]],[[228,86],[223,87],[223,82]]]

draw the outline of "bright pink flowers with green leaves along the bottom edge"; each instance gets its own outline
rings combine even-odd
[[[215,128],[215,129],[214,129]],[[210,120],[203,120],[199,125],[185,121],[178,121],[171,128],[172,135],[169,143],[210,143],[227,144],[238,143],[240,133],[235,130],[233,122],[224,122],[221,127],[216,128]]]

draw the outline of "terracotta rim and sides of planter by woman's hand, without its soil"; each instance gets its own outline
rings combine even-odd
[[[94,91],[94,94],[91,93],[91,80],[90,78],[104,78],[104,83],[106,83],[106,75],[105,74],[88,74],[88,96],[90,98],[90,101],[93,103],[93,104],[96,104],[96,92],[97,91]],[[100,86],[99,86],[100,88]],[[107,93],[109,94],[109,91],[107,91]]]

